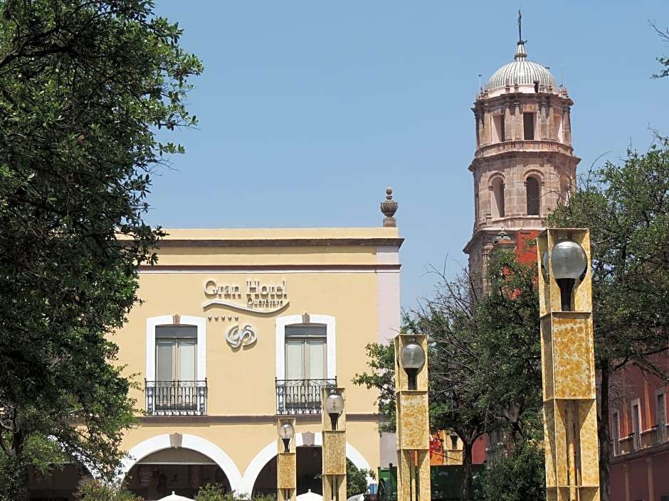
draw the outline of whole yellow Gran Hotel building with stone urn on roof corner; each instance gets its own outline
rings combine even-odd
[[[399,332],[391,212],[377,228],[168,233],[115,336],[146,411],[123,443],[131,490],[148,500],[192,497],[206,483],[275,492],[277,419],[290,416],[297,493],[319,492],[323,386],[346,388],[352,463],[375,469],[382,449],[394,456],[377,431],[376,393],[351,383],[367,368],[365,345]]]

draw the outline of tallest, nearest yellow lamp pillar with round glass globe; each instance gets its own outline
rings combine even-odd
[[[537,252],[546,497],[599,501],[589,231],[546,230],[537,237]],[[584,273],[567,277],[566,262],[576,254]]]

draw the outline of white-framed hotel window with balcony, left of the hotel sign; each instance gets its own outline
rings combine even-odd
[[[204,318],[147,320],[147,414],[206,414]]]

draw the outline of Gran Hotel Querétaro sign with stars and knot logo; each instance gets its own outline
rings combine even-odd
[[[203,308],[224,306],[235,311],[248,311],[261,315],[278,313],[288,306],[288,286],[286,281],[279,283],[260,280],[246,280],[245,284],[224,284],[215,279],[204,282],[204,296],[207,301]],[[258,340],[256,329],[250,323],[238,323],[237,313],[223,315],[209,315],[209,321],[234,323],[226,332],[226,341],[232,348],[253,345]]]

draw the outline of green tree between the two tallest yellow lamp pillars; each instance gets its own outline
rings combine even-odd
[[[468,274],[442,276],[435,296],[411,311],[403,328],[428,336],[431,429],[454,431],[463,442],[463,500],[472,492],[475,441],[502,429],[514,441],[532,439],[525,416],[542,406],[537,267],[499,249],[488,273],[481,298]],[[372,372],[353,382],[379,389],[379,413],[394,423],[393,346],[372,343],[367,355]]]

